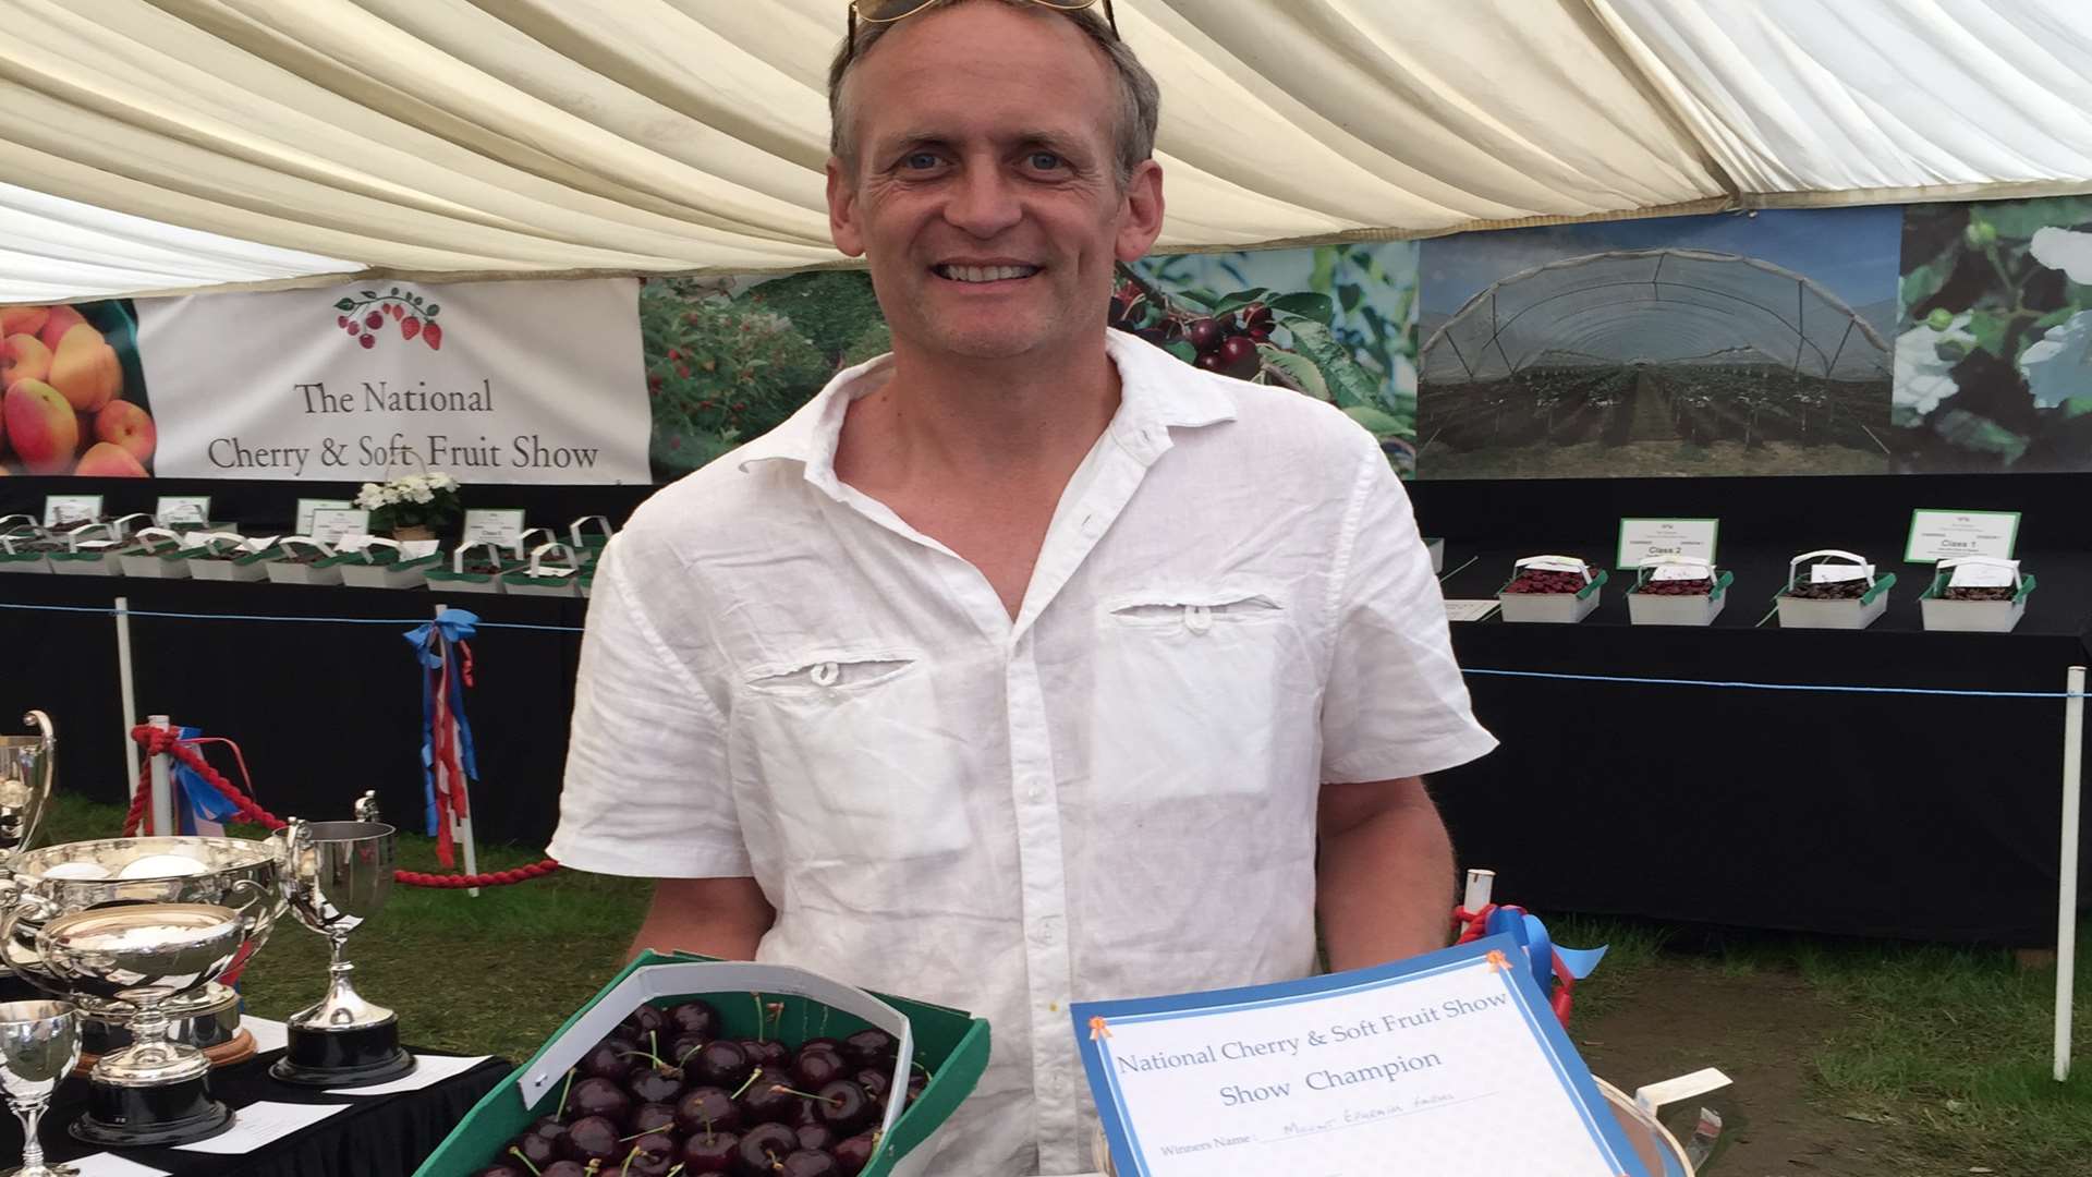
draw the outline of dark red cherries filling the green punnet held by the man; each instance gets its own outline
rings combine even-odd
[[[640,1005],[567,1074],[544,1116],[473,1177],[854,1177],[879,1150],[887,1102],[923,1093],[916,1066],[893,1087],[885,1030],[726,1037],[707,1001]]]

